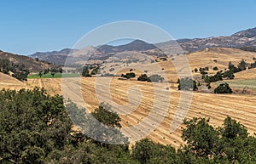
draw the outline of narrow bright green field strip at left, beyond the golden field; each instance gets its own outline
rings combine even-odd
[[[78,73],[55,73],[55,76],[52,76],[50,73],[43,74],[41,77],[38,74],[33,74],[30,76],[27,76],[28,79],[32,78],[61,78],[61,77],[79,77],[81,76]]]

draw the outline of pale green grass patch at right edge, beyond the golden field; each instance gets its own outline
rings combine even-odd
[[[256,79],[248,79],[248,80],[232,80],[232,81],[223,81],[216,82],[216,85],[220,83],[227,82],[230,85],[230,88],[250,88],[256,90]]]

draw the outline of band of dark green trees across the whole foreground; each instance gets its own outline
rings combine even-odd
[[[84,109],[68,105],[68,113],[76,116],[73,122],[90,122]],[[120,118],[109,105],[101,104],[92,116],[109,127],[120,127]],[[85,125],[90,126],[85,130],[93,131]],[[182,139],[187,144],[178,150],[149,139],[137,141],[129,150],[126,144],[102,144],[73,132],[61,96],[49,96],[39,88],[2,90],[0,163],[255,163],[256,138],[240,122],[227,117],[222,127],[212,127],[205,118],[193,118],[184,125]]]

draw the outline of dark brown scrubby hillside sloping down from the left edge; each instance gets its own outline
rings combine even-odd
[[[25,65],[25,68],[31,72],[42,71],[46,68],[50,68],[54,66],[47,62],[33,59],[28,56],[6,53],[1,50],[0,50],[0,59],[9,59],[9,61],[13,62],[14,64]]]

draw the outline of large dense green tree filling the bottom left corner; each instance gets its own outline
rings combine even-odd
[[[67,144],[71,122],[61,96],[2,90],[0,109],[0,163],[43,163]]]

